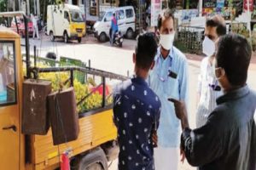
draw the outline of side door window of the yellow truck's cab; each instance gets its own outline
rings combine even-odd
[[[0,105],[16,104],[15,42],[0,41]]]

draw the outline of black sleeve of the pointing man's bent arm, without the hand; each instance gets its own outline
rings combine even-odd
[[[203,127],[191,130],[186,127],[181,135],[181,148],[189,164],[201,167],[210,163],[224,152],[224,133],[218,132],[218,125],[207,122]]]

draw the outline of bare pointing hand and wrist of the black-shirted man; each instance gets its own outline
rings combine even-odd
[[[179,101],[177,99],[168,99],[171,101],[175,107],[175,114],[177,118],[181,121],[182,128],[189,127],[188,114],[186,105],[183,101]]]

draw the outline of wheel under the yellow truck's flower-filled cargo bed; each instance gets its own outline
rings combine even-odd
[[[108,161],[102,148],[96,148],[78,162],[78,170],[108,170]]]

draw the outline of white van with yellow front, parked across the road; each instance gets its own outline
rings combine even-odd
[[[69,4],[49,5],[47,8],[47,34],[51,41],[63,37],[65,42],[85,36],[85,23],[78,6]]]

